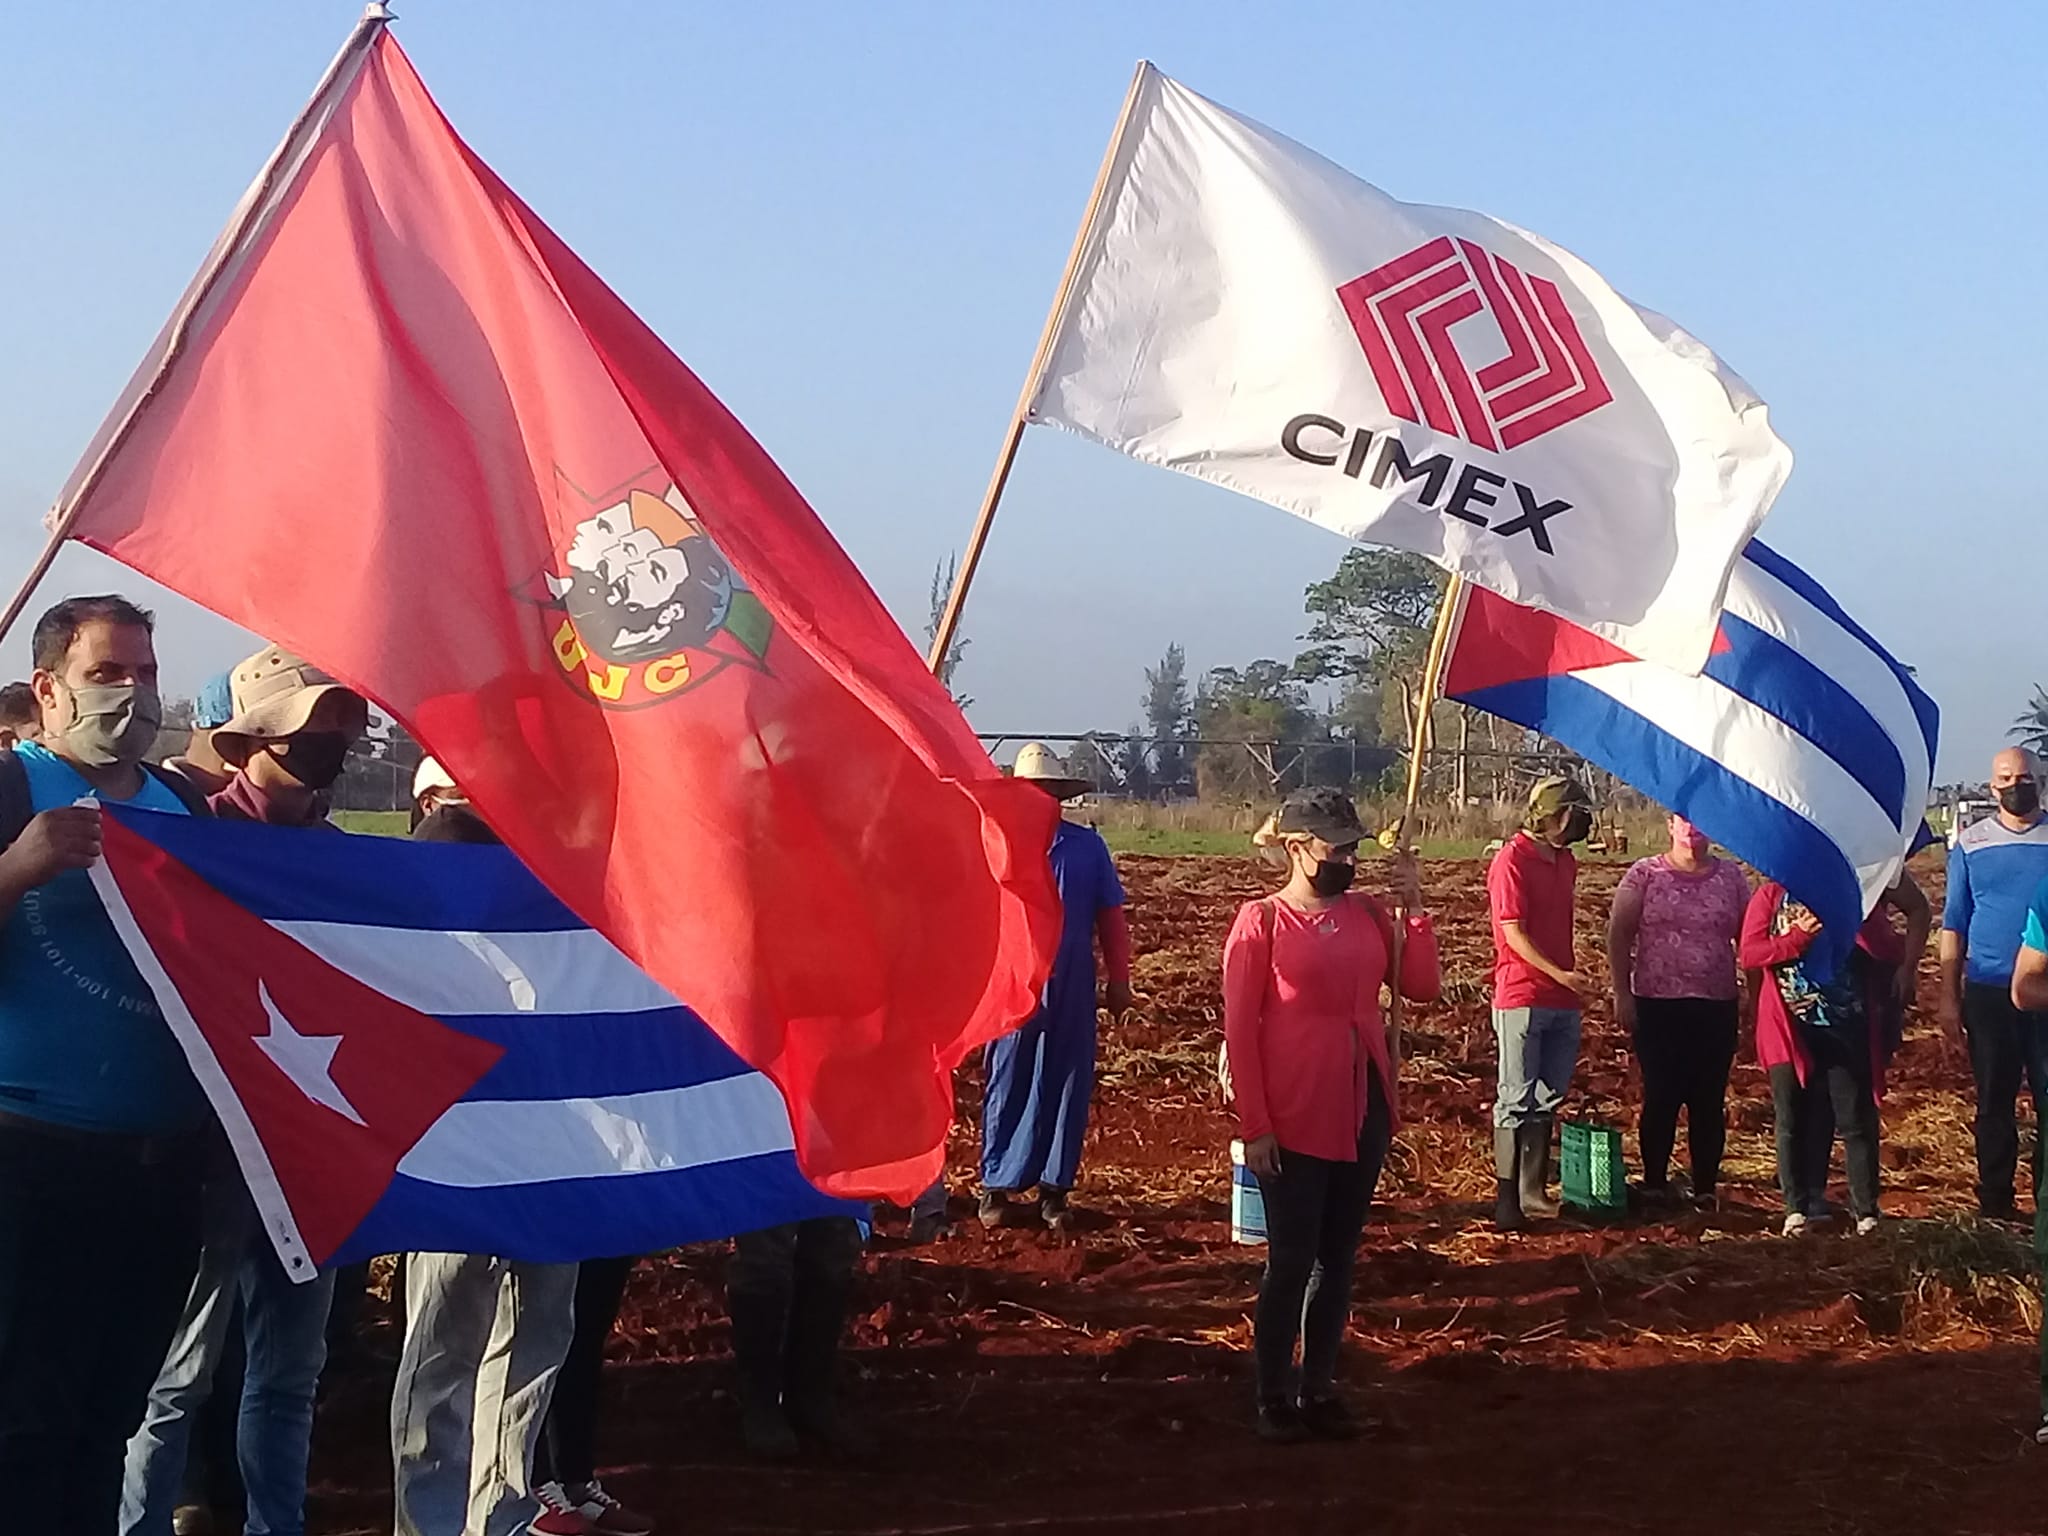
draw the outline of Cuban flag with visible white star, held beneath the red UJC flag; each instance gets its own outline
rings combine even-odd
[[[102,827],[92,883],[293,1278],[864,1214],[803,1178],[774,1083],[510,850],[111,805]]]

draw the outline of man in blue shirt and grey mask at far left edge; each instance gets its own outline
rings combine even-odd
[[[109,1536],[197,1268],[207,1102],[92,891],[78,801],[193,805],[143,768],[147,612],[70,598],[33,647],[43,735],[0,754],[0,1479],[51,1491],[57,1536]]]

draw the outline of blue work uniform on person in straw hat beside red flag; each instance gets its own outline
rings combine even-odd
[[[1053,881],[1065,913],[1038,1012],[991,1040],[981,1094],[981,1186],[1071,1190],[1096,1092],[1096,918],[1124,905],[1102,834],[1061,821]]]

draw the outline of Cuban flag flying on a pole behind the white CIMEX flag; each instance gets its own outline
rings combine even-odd
[[[1470,590],[1444,694],[1528,725],[1804,901],[1839,961],[1917,846],[1939,711],[1819,582],[1751,541],[1700,676]]]

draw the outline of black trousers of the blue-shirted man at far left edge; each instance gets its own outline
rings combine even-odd
[[[201,1149],[0,1124],[0,1479],[51,1536],[113,1536],[199,1268]]]

